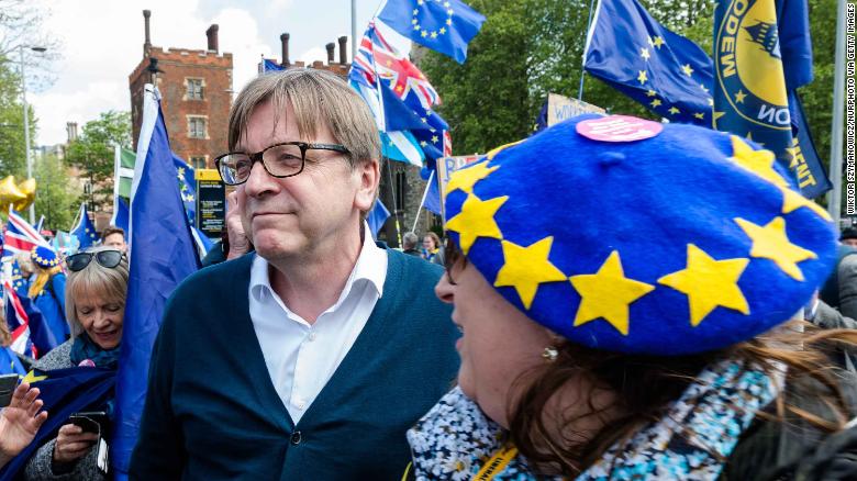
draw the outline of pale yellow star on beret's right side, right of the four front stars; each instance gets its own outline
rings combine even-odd
[[[786,234],[786,220],[775,217],[766,225],[754,224],[745,219],[735,217],[747,237],[753,240],[750,257],[772,260],[777,267],[794,280],[803,281],[803,271],[798,262],[815,259],[812,250],[792,244]]]

